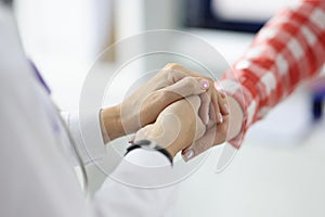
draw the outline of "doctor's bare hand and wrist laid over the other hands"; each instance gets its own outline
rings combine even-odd
[[[218,94],[212,80],[178,64],[168,64],[121,104],[103,110],[101,114],[105,129],[103,131],[107,132],[109,137],[106,142],[154,123],[159,113],[171,103],[188,95],[198,94],[203,101],[199,116],[205,124],[209,118],[222,122],[219,111],[226,113],[226,110],[220,108],[223,105],[218,104]],[[218,112],[210,113],[209,116],[210,102]]]

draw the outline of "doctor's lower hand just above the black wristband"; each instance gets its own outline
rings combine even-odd
[[[200,138],[206,126],[198,117],[200,98],[192,95],[166,107],[154,124],[140,129],[134,141],[151,140],[165,148],[173,157]]]

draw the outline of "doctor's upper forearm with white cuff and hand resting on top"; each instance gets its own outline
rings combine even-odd
[[[83,163],[88,164],[103,158],[104,143],[154,123],[165,107],[188,95],[205,97],[206,103],[200,106],[203,116],[208,114],[210,101],[220,114],[225,114],[224,108],[221,105],[219,107],[216,100],[218,92],[212,86],[211,78],[178,64],[167,64],[120,104],[89,114],[81,113],[81,119],[78,113],[66,114],[64,117],[81,152]]]

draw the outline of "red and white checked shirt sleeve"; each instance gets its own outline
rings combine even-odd
[[[251,124],[324,63],[325,1],[302,1],[271,18],[219,84],[244,111],[242,133],[231,143],[238,148]]]

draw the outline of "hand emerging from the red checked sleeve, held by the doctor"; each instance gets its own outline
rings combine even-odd
[[[227,140],[235,138],[242,130],[244,122],[244,113],[239,103],[232,97],[225,97],[223,93],[219,103],[225,103],[230,106],[229,115],[223,116],[222,124],[209,122],[205,135],[196,140],[191,146],[182,151],[185,162],[207,151],[213,145],[221,144]]]

